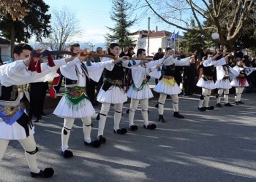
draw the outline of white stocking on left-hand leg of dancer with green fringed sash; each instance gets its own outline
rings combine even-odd
[[[74,124],[74,118],[65,118],[64,119],[64,127],[61,130],[61,150],[66,151],[69,146],[69,135],[70,130],[72,129],[72,125]]]

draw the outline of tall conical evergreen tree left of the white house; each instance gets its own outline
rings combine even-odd
[[[135,46],[135,41],[129,38],[129,30],[136,20],[128,20],[129,9],[132,8],[132,5],[129,4],[126,0],[113,0],[112,12],[110,17],[113,21],[116,22],[114,28],[107,27],[110,33],[107,33],[105,36],[107,44],[111,42],[116,42],[120,45],[121,48],[129,46]]]

